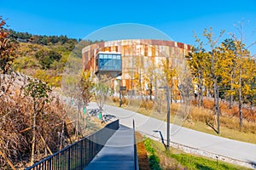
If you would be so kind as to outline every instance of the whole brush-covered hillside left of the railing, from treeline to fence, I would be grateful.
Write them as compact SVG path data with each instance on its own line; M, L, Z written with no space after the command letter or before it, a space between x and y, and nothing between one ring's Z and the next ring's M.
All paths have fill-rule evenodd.
M39 161L95 132L102 123L52 90L61 86L71 52L81 58L80 48L90 42L78 44L67 37L51 42L53 37L22 32L15 37L4 25L0 17L0 169L24 169L32 157Z

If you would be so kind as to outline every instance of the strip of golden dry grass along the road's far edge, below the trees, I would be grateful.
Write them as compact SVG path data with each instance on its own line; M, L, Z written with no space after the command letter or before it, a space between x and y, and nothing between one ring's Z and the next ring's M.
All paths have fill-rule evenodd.
M115 101L119 102L118 99ZM243 108L243 127L240 127L237 105L229 109L227 104L220 102L222 115L220 116L220 134L217 134L212 129L212 127L217 129L217 117L212 111L213 101L211 99L205 99L204 108L199 108L195 105L195 101L189 106L173 103L170 107L171 122L204 133L211 133L224 138L256 144L256 115L255 110L252 108ZM166 104L163 103L154 104L153 101L150 100L133 99L128 102L128 105L122 105L122 107L166 121ZM207 124L211 124L212 127L209 127Z

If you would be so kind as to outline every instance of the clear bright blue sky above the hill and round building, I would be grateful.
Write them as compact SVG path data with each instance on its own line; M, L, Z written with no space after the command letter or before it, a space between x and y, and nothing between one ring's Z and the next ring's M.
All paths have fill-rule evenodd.
M193 31L212 26L218 35L237 33L234 24L245 20L245 42L256 41L256 1L7 1L0 0L0 15L15 31L84 38L105 26L137 23L165 32L172 40L195 44ZM253 33L255 32L255 33ZM250 48L256 54L256 47Z

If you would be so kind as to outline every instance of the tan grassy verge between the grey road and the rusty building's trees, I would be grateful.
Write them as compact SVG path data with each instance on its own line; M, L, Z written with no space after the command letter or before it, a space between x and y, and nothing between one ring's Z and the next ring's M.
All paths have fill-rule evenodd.
M119 106L119 102L108 100L108 105ZM129 105L122 105L122 108L130 111L136 111L145 116L151 116L156 119L166 121L166 105L161 105L160 111L155 111L154 105L148 106L141 102L133 102ZM148 108L148 109L147 109ZM216 133L212 127L208 126L206 122L212 124L216 128L216 117L211 110L190 107L189 113L180 104L171 105L171 122L179 126L188 127L203 133L210 133L228 139L236 139L247 143L256 144L256 123L247 122L244 119L244 126L239 127L239 119L236 116L229 116L223 114L220 117L220 133Z

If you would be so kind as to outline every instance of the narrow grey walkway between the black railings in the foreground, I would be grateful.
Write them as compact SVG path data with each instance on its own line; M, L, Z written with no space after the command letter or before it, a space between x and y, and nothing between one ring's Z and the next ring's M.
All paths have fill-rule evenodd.
M119 129L108 139L107 144L90 161L85 170L123 169L134 170L134 133L133 129L119 126Z

